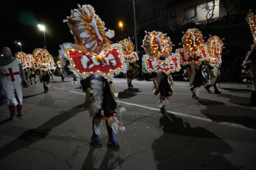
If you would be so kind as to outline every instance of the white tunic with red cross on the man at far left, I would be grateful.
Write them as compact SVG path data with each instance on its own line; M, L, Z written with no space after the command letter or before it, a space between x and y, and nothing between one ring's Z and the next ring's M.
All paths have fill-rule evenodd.
M22 88L19 64L22 62L17 58L7 66L0 66L1 83L7 97L8 106L22 104Z

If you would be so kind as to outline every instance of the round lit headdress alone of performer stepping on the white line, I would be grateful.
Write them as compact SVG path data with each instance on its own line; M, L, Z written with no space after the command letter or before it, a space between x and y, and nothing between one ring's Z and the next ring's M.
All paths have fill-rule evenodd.
M171 55L172 45L170 38L162 32L146 32L143 40L143 48L153 58L159 58L161 51L164 51L165 56Z

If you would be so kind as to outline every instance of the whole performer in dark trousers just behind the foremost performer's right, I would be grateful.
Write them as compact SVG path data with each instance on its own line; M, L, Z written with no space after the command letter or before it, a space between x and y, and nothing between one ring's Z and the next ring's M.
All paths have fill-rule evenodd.
M132 88L132 80L135 76L133 74L133 70L136 69L135 67L139 68L139 66L135 63L137 60L139 60L138 54L134 52L134 45L132 44L132 41L128 39L124 39L119 41L119 44L122 46L122 52L124 55L124 60L126 61L126 65L128 66L126 77L127 77L127 84L128 89Z

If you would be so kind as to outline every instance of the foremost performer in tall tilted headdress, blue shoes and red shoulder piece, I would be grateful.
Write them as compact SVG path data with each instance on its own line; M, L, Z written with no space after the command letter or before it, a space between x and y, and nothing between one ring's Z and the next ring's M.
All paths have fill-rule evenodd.
M78 4L78 7L71 11L71 16L67 17L67 20L63 20L67 22L76 44L61 45L59 53L69 60L68 67L80 77L82 89L86 93L89 115L93 117L92 144L102 146L98 135L104 133L101 121L105 119L108 144L118 147L113 132L124 130L124 127L114 111L117 104L113 96L117 97L117 93L111 78L114 74L126 72L121 45L110 44L108 38L114 36L114 31L105 31L104 22L95 14L91 5ZM101 115L101 110L104 111L104 116Z

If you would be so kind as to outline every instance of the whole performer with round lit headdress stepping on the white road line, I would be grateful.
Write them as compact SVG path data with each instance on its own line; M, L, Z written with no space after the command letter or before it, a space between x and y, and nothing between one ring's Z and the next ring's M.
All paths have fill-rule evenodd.
M174 85L171 72L180 70L178 53L171 53L173 44L162 32L146 32L143 48L147 54L143 55L143 71L152 73L154 95L159 97L160 112L165 113L165 103L172 94ZM171 93L171 94L170 94Z

